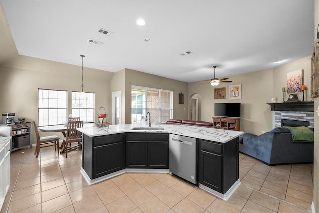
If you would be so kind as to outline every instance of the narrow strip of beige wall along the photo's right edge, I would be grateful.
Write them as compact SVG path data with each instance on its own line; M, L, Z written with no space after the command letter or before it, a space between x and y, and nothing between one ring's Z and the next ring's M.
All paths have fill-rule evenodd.
M317 35L319 24L319 0L315 0L314 5L314 31ZM319 97L315 99L315 109L319 106ZM316 114L316 113L315 113ZM319 213L319 117L315 115L315 141L314 141L314 210Z

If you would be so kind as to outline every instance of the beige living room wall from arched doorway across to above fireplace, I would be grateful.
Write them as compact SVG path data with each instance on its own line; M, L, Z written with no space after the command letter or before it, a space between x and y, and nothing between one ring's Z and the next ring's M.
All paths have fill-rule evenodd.
M283 101L282 87L287 86L287 73L298 69L304 70L304 84L310 87L310 58L307 56L283 66L252 72L242 75L233 75L228 78L232 83L220 83L213 87L209 83L189 83L188 94L199 94L201 101L201 120L212 121L214 116L214 103L241 103L240 130L260 135L262 131L273 128L273 112L267 103L275 97L276 102ZM229 85L241 84L241 100L229 100ZM214 99L214 88L226 87L226 99ZM302 92L298 94L302 100ZM310 99L310 91L305 93L307 101ZM285 94L287 100L287 94Z

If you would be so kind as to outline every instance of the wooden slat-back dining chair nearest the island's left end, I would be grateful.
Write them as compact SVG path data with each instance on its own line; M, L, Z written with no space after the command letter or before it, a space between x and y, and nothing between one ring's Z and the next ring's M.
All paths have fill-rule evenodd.
M64 151L66 154L66 158L68 157L68 150L77 147L69 147L67 148L69 143L73 142L82 142L82 133L77 130L77 128L83 127L83 121L68 121L67 129L66 129L66 137L65 137L65 144L64 144Z

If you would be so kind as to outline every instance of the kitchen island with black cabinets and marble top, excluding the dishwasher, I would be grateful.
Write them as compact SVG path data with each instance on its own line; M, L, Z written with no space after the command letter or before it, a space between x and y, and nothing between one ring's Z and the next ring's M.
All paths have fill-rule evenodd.
M238 137L244 132L187 125L110 125L83 133L81 173L89 184L126 172L169 173L169 135L196 140L196 185L227 200L240 185Z

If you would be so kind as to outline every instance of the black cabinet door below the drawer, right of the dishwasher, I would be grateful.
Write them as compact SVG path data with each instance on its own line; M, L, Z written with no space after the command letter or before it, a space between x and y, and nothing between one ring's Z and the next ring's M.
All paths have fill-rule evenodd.
M200 151L199 183L222 192L222 156L206 151Z

